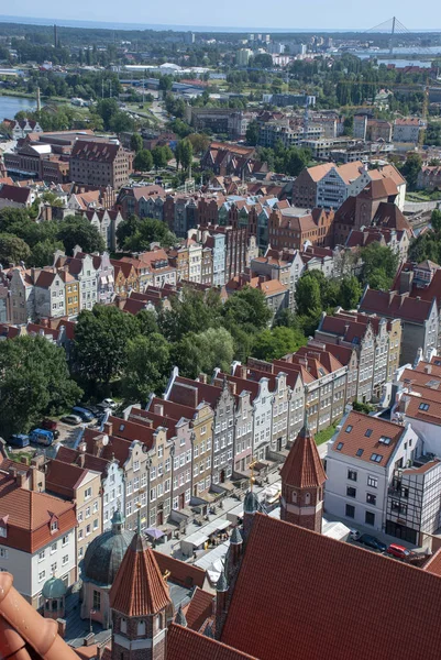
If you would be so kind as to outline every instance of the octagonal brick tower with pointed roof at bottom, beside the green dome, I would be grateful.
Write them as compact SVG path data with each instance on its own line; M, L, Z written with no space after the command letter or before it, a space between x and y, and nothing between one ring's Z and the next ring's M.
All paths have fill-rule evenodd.
M112 609L112 660L165 660L173 604L155 557L134 535L109 593Z

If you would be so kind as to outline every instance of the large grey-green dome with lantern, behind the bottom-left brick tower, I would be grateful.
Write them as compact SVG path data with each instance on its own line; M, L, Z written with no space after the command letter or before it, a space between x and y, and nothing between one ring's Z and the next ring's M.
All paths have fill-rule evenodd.
M124 519L119 510L112 517L112 529L92 540L82 561L84 582L110 586L133 538L133 531L123 528Z

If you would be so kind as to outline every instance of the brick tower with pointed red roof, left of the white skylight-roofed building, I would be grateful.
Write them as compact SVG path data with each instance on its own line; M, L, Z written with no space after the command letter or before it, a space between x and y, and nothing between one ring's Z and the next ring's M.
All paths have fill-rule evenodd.
M327 475L308 426L308 417L280 471L280 519L321 532Z

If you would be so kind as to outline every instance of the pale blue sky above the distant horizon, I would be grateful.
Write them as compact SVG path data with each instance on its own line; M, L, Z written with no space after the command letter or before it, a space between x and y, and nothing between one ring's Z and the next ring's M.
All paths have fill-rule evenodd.
M11 7L11 6L9 6ZM439 0L427 0L422 11L416 11L410 0L308 0L293 2L286 0L167 0L155 2L126 0L123 4L115 0L22 0L13 13L16 16L35 16L51 21L97 21L115 24L137 25L191 25L224 26L232 29L267 30L283 29L296 31L305 29L368 30L383 23L394 14L408 30L429 29L441 31ZM12 13L12 12L11 12ZM2 16L2 20L4 18ZM433 24L433 22L439 24ZM121 25L122 26L122 25ZM1 30L0 30L1 33Z

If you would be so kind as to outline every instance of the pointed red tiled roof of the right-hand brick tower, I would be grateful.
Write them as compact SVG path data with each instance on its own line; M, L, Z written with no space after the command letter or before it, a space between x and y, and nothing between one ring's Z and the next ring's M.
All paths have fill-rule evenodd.
M327 481L309 427L302 427L280 470L282 481L296 488L319 487Z

